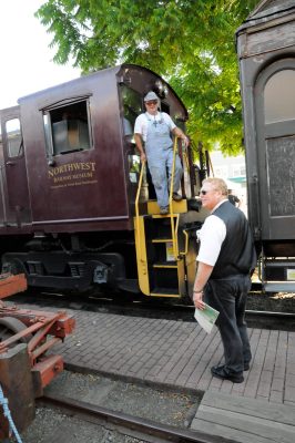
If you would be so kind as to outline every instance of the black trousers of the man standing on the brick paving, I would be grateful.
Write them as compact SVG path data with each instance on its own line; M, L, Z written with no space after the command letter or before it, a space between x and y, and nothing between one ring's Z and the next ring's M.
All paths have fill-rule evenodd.
M220 330L224 362L228 372L242 372L244 363L251 361L251 349L245 322L246 298L251 278L244 275L223 279L210 279L204 289L204 299L220 311L216 326Z

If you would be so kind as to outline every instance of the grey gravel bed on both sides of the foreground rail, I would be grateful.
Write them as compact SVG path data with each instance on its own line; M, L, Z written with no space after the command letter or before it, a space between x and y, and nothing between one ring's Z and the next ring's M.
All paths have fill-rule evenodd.
M189 427L201 401L195 394L162 391L125 383L99 375L63 371L45 389L45 393L70 396L125 414L155 422ZM68 439L67 439L67 435ZM142 440L119 434L77 418L40 408L31 426L22 435L23 443L140 443Z

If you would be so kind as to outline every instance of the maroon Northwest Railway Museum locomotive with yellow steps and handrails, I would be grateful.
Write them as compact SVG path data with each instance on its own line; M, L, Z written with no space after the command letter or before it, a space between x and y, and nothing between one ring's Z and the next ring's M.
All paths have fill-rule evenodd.
M105 69L19 100L0 111L2 271L29 287L190 296L195 274L195 168L184 167L183 199L160 216L141 167L133 125L154 91L184 130L187 112L154 72ZM148 178L146 178L148 177ZM150 186L150 193L149 193Z

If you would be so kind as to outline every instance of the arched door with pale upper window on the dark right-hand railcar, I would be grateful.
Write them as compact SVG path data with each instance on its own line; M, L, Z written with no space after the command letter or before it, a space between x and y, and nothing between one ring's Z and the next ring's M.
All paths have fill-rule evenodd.
M262 72L255 111L262 239L295 239L295 59Z

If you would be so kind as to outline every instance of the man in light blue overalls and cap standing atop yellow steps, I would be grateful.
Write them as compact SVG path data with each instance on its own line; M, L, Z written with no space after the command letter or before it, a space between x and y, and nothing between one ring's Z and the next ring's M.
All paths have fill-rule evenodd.
M175 125L165 112L159 112L160 99L150 91L144 97L146 112L138 116L134 126L134 140L141 154L141 161L148 159L149 169L155 188L160 214L169 214L169 189L173 164L173 142L171 133L189 145L189 138ZM144 145L144 148L143 148ZM166 175L169 171L169 179ZM177 194L181 185L182 165L179 155L175 158L173 199L181 200Z

